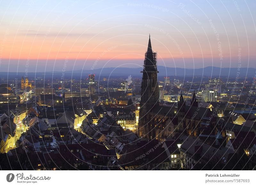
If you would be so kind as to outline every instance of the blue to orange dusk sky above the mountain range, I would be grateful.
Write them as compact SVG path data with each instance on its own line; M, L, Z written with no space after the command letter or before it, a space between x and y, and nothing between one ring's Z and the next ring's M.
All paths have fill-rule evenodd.
M1 1L0 72L256 68L256 1Z

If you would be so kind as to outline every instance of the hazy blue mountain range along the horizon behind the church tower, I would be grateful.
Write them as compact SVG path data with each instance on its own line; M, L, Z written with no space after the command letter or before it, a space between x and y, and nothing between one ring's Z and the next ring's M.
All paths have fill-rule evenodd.
M100 77L123 77L127 75L132 75L133 77L140 77L142 71L142 68L114 68L114 67L108 67L108 68L100 68L100 69L94 69L94 70L74 70L74 71L66 71L65 73L65 79L68 78L80 78L82 75L82 78L87 77L88 74L95 74L96 76ZM236 77L238 75L239 77L252 77L256 74L255 68L220 68L220 67L212 67L208 66L205 68L198 68L198 69L186 69L186 68L173 68L173 67L165 67L165 66L158 66L159 77L163 76L223 76L223 77ZM81 74L82 73L82 74ZM9 74L9 77L21 77L24 76L25 73L14 73L14 72L1 72L2 77L7 77L7 74ZM58 78L62 76L62 72L38 72L38 73L28 73L29 77L53 77Z

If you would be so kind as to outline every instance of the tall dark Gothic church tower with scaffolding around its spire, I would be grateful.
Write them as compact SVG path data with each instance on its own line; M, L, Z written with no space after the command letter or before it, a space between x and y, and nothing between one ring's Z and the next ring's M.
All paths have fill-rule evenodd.
M154 105L159 104L159 91L157 81L157 53L153 52L149 35L148 50L145 53L144 67L141 82L141 100L140 100L140 120L139 120L139 135L145 136L148 134L149 125L147 125L148 112Z

